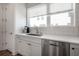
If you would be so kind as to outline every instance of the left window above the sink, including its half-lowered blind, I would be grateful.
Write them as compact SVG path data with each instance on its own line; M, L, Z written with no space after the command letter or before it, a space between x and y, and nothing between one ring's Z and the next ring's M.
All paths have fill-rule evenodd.
M30 27L46 27L47 26L47 6L39 4L27 9L27 17Z

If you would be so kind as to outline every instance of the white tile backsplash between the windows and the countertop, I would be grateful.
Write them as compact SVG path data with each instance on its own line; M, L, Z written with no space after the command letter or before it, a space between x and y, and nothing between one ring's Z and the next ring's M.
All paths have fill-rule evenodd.
M31 28L31 31L35 31L34 28ZM50 34L50 35L67 35L67 36L78 36L79 28L78 27L40 27L39 31L42 34Z

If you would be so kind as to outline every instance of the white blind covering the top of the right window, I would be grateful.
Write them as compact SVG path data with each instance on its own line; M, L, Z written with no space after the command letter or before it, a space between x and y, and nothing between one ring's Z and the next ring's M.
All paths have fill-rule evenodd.
M72 10L72 3L51 3L49 5L49 13L56 13L60 11Z

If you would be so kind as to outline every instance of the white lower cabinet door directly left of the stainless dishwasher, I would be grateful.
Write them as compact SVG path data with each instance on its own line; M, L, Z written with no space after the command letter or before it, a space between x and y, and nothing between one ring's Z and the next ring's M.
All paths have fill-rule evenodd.
M33 43L31 45L31 49L32 56L41 56L41 45Z

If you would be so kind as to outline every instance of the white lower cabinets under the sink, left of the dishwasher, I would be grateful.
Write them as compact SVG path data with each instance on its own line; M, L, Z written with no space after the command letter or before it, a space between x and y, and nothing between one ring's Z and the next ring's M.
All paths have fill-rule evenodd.
M41 44L19 38L16 40L16 53L23 56L41 56Z

